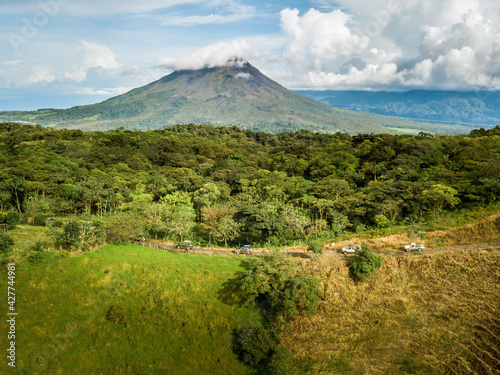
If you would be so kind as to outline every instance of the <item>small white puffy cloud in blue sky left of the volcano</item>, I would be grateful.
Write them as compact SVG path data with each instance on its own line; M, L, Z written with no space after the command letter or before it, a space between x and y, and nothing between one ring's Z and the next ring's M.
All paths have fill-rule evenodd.
M108 47L81 40L83 46L84 58L83 64L77 66L73 73L66 73L65 78L75 82L82 82L87 78L87 71L92 68L117 69L121 65L116 61L116 55Z

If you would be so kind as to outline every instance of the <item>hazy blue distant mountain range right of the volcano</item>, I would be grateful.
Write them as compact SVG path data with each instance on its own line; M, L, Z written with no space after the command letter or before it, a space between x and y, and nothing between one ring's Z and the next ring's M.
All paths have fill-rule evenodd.
M296 91L353 111L455 124L500 124L500 91Z

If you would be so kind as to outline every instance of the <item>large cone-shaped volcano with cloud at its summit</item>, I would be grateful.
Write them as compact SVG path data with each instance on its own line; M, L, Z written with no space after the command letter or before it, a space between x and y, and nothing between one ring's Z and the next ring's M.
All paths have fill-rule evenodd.
M301 94L284 88L248 62L230 61L222 67L176 71L146 86L93 105L0 112L0 121L83 130L117 127L162 129L187 123L234 125L269 133L300 129L350 134L468 133L471 130L469 126L432 123L429 122L431 117L416 121L362 113L358 111L361 110L359 106L349 110L339 108L340 105L333 107L329 103L332 98L342 99L340 101L346 108L350 105L351 99L339 96L337 92L308 91ZM366 99L366 108L376 98L374 94ZM377 103L381 106L383 101Z

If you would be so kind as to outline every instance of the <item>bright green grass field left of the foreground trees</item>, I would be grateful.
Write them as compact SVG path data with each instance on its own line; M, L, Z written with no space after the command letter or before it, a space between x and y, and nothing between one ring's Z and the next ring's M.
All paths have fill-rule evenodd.
M231 352L231 332L258 313L216 297L238 269L236 258L136 245L52 252L38 265L22 262L15 285L17 368L39 374L245 374ZM7 281L6 270L0 271L2 290ZM1 335L0 346L6 345Z

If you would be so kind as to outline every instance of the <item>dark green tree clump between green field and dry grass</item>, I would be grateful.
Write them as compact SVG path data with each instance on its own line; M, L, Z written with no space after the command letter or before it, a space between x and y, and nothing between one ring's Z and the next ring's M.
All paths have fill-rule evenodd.
M219 297L240 303L255 302L264 324L235 330L232 349L258 374L291 374L291 356L280 344L280 334L295 314L316 312L319 280L280 253L244 260L242 266L244 270L219 290Z

